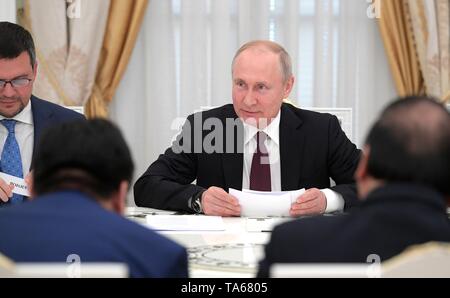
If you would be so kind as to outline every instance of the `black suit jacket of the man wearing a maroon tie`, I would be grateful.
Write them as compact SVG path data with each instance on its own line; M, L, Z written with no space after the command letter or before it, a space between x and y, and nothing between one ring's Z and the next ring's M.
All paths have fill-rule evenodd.
M201 117L196 125L194 119ZM201 136L200 144L211 130L201 130L205 120L218 119L226 127L226 119L238 119L233 105L225 105L201 114L188 117L183 131L175 143L186 145L186 136ZM139 178L134 186L135 202L138 206L191 212L188 200L210 186L242 188L243 171L243 125L237 120L234 139L224 133L225 153L195 153L191 142L191 153L175 153L174 146L167 149L157 161ZM189 127L192 127L189 130ZM237 140L237 136L241 139ZM229 140L234 144L229 144ZM220 141L216 140L216 141ZM239 141L239 142L238 142ZM228 143L227 143L228 142ZM198 142L197 142L198 143ZM189 147L189 146L187 146ZM198 146L200 147L200 146ZM227 153L234 148L234 152ZM233 152L233 151L232 151ZM330 177L337 186L332 189L343 195L346 208L356 199L353 174L360 151L356 149L342 131L335 116L297 109L290 104L281 107L280 159L282 190L301 188L327 188ZM197 184L191 184L197 180Z

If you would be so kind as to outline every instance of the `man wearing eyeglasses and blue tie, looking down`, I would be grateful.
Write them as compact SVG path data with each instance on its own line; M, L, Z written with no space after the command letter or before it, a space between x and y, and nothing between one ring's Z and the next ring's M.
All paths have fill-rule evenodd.
M16 24L0 22L0 172L19 178L30 171L45 127L83 118L32 95L37 66L31 34ZM0 178L0 207L26 199L13 188Z

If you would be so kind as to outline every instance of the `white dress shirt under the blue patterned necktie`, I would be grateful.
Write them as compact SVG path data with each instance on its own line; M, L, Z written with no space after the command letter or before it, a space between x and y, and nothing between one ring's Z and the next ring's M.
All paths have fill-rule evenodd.
M16 120L15 135L17 144L19 144L20 157L22 158L23 177L28 174L31 166L31 158L33 156L34 146L34 122L33 113L31 112L31 102L13 118L5 118L0 115L0 120L13 119ZM5 126L0 124L0 154L3 151L6 138L8 137L8 130Z

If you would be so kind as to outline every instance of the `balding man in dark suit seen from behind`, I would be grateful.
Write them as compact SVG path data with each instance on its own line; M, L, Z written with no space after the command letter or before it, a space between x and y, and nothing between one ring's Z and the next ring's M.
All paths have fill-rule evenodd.
M450 241L450 115L441 104L411 97L387 107L355 176L359 208L277 226L260 277L274 263L383 261L413 244Z

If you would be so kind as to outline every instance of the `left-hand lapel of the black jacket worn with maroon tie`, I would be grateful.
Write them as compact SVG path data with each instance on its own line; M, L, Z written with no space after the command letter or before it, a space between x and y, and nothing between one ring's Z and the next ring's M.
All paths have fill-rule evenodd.
M237 115L234 112L234 108L232 105L228 105L223 112L223 125L225 127L224 132L226 132L226 119L237 119ZM243 126L242 122L239 120L239 124L237 131L234 133L234 152L239 153L223 153L220 154L222 156L222 166L223 166L223 174L225 178L225 185L227 187L235 188L235 189L242 189L242 171L244 169L244 154L243 154ZM238 137L242 138L242 140L238 141ZM226 148L226 134L224 136L224 144ZM242 144L242 146L240 146ZM238 148L238 146L242 148ZM238 151L239 149L239 151ZM225 191L228 191L228 189L225 189Z

